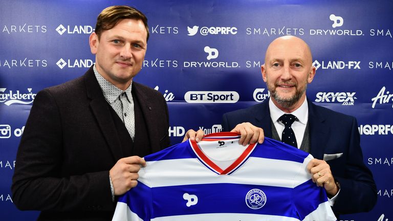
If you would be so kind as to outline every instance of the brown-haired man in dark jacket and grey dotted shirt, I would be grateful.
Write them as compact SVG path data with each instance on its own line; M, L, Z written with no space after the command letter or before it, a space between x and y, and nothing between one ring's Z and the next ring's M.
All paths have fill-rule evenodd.
M111 220L141 157L169 146L165 99L133 82L147 39L143 13L108 7L90 36L95 65L37 94L13 176L19 209L40 210L38 220Z

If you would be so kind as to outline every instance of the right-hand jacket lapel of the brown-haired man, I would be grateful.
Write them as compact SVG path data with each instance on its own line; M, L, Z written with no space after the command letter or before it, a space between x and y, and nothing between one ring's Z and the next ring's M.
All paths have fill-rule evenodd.
M136 98L138 99L139 106L141 107L141 111L146 123L146 128L148 132L148 137L150 141L150 146L152 152L158 152L160 151L160 138L159 137L159 132L157 131L157 121L160 119L157 119L156 113L157 111L162 111L162 109L158 109L156 105L154 105L154 100L151 98L149 99L146 96L146 92L143 86L141 84L133 81L133 91L135 92Z

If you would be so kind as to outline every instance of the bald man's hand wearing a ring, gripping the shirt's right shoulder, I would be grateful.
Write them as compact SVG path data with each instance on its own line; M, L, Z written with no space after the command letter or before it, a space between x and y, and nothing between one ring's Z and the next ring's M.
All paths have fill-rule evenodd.
M307 170L311 173L313 182L317 186L323 187L330 196L335 196L338 192L338 186L334 181L330 166L326 161L312 159L307 165Z

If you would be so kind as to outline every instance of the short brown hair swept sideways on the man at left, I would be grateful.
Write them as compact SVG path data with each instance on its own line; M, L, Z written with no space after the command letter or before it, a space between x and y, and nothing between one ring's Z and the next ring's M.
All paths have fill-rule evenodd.
M102 10L97 17L95 33L100 38L103 31L110 30L122 19L142 20L146 27L147 39L149 39L149 27L147 26L147 17L139 10L129 6L110 6Z

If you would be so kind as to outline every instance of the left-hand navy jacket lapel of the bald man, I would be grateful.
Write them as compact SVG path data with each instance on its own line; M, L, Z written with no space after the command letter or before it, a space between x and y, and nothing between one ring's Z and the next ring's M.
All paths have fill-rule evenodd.
M272 138L272 120L270 118L269 100L257 104L253 112L254 113L251 113L250 116L255 116L255 122L252 122L252 124L263 128L265 137Z

